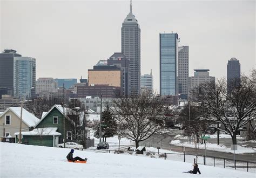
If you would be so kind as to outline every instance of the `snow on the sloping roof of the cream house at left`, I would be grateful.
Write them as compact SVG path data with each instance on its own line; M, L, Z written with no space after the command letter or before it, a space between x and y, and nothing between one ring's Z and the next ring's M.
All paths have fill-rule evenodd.
M21 118L21 107L9 107L5 112L7 112L9 109L14 112L18 118ZM33 127L37 124L37 122L39 122L39 119L35 117L35 115L26 111L26 109L22 108L22 121L29 127Z

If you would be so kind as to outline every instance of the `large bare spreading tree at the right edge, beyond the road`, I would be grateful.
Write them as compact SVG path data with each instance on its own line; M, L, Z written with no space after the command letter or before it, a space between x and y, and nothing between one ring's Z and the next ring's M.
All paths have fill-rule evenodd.
M224 128L212 125L219 131L230 134L233 145L237 144L239 128L255 118L255 85L248 77L242 77L240 85L227 94L225 79L207 83L196 88L198 101L208 114L208 120L220 123Z

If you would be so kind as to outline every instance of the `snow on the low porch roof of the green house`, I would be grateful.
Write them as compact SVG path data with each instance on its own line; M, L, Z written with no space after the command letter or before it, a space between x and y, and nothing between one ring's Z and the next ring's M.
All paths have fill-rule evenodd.
M57 127L44 127L44 128L35 128L30 132L22 132L22 135L62 135L57 131ZM14 135L18 135L19 132L16 132Z

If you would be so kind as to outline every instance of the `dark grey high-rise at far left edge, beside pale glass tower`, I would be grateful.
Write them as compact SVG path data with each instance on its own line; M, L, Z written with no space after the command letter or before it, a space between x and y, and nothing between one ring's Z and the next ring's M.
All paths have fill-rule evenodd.
M0 87L11 90L11 95L14 92L14 57L20 56L15 50L0 53Z

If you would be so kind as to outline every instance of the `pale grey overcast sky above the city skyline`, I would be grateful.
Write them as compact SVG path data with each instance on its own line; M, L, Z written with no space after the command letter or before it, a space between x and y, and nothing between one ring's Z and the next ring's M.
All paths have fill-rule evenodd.
M100 59L121 51L130 1L1 1L0 50L36 58L36 78L87 78ZM133 1L141 29L142 74L159 91L159 33L177 32L193 69L226 77L227 60L255 68L255 1Z

